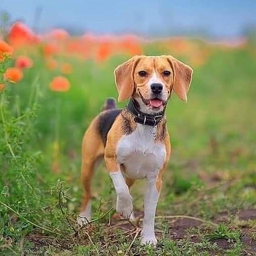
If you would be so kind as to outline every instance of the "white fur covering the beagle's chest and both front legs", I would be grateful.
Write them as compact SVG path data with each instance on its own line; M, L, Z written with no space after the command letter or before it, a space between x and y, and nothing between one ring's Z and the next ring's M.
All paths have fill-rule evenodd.
M154 218L159 193L156 189L156 178L163 166L165 145L155 142L150 126L137 124L136 130L123 136L117 144L117 162L124 164L125 173L118 170L110 173L117 193L117 211L129 218L132 213L132 197L125 184L123 175L131 179L147 179L145 193L145 217L142 230L142 242L156 244Z

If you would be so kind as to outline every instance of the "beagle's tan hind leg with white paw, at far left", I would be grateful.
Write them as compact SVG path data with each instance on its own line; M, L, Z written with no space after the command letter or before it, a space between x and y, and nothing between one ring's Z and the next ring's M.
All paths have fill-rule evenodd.
M82 198L80 214L77 218L79 225L82 225L82 222L86 221L86 219L90 219L91 199L93 197L91 190L92 178L103 155L103 142L95 130L94 123L92 123L82 141L81 182L84 188L84 195Z

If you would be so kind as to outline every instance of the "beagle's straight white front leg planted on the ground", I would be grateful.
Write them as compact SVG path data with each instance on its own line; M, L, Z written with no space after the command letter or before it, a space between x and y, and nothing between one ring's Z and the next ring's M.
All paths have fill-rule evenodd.
M144 197L144 220L142 228L142 243L156 245L155 237L155 211L160 194L157 179L147 178L147 187ZM161 184L160 184L161 185Z

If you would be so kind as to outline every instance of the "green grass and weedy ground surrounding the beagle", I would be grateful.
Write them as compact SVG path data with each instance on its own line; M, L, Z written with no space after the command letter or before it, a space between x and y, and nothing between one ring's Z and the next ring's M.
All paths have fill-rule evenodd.
M145 53L166 54L158 44L145 45ZM69 58L75 67L68 75L71 89L55 93L48 84L57 71L49 72L38 54L32 56L34 67L24 79L0 93L1 254L253 255L254 49L252 43L243 49L210 48L207 62L194 67L188 104L175 95L168 104L173 153L157 216L170 218L156 220L156 248L142 246L139 235L134 239L140 221L116 220L112 210L109 227L115 193L103 164L93 184L96 221L82 230L76 226L81 139L105 99L116 98L113 69L127 57L101 65ZM138 181L132 188L138 215L143 185ZM176 218L181 215L192 218Z

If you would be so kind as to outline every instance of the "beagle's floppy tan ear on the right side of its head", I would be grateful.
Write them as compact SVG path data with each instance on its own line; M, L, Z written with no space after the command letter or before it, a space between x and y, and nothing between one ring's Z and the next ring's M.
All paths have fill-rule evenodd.
M165 56L174 73L174 92L180 99L187 101L187 92L189 90L193 69L183 62L175 59L173 56Z

